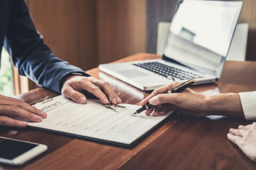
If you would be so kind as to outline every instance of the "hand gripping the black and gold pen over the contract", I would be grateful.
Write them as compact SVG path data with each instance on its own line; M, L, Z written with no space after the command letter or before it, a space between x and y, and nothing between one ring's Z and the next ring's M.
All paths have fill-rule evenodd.
M206 116L205 95L189 88L180 93L166 94L167 91L179 84L179 82L173 81L166 86L155 89L147 98L142 100L140 103L142 106L148 102L155 106L149 108L146 115L150 115L155 109L153 116L164 115L170 111L179 111L191 116Z

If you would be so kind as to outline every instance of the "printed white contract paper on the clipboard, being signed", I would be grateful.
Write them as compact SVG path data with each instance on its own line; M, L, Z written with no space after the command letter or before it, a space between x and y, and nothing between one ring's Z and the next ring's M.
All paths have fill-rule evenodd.
M87 99L86 104L77 104L63 96L54 97L34 107L47 113L42 122L29 126L77 137L121 146L132 144L162 122L164 116L146 116L145 112L131 115L141 106L120 104L125 108L105 107L100 100Z

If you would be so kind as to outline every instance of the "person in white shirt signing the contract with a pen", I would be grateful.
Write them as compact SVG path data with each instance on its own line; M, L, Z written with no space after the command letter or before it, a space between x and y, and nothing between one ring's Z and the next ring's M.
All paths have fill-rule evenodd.
M179 111L191 116L223 115L256 120L256 91L228 93L218 95L203 95L191 89L181 93L166 94L177 81L155 89L140 105L148 102L155 107L146 111L146 115L153 112L153 116L164 115L169 111ZM230 129L227 137L242 149L244 154L256 162L256 122L238 129Z

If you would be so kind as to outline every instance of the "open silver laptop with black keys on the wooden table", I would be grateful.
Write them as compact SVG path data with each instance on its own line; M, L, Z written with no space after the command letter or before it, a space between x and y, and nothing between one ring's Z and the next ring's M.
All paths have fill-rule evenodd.
M161 60L101 64L99 69L141 90L174 80L217 81L242 6L241 1L179 1Z

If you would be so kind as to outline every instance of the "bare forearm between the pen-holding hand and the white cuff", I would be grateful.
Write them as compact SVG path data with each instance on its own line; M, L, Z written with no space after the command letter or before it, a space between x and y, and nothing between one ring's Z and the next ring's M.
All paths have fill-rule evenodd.
M208 115L244 117L239 94L229 93L207 96L205 106Z

